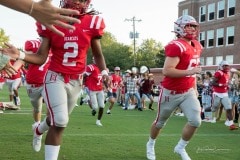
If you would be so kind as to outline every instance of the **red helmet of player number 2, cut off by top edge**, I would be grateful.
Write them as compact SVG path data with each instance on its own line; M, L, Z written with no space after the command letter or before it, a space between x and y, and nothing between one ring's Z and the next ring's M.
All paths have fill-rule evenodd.
M78 0L79 2L85 2L84 6L82 7L77 2L73 2L74 0L60 0L60 7L61 8L70 8L74 10L78 10L80 14L86 13L91 0Z

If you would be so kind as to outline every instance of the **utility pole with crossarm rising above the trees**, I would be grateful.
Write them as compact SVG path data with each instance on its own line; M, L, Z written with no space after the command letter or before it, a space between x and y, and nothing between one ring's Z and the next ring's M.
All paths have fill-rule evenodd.
M135 22L141 22L142 20L141 19L136 19L136 17L134 16L134 17L132 17L132 18L130 18L130 19L125 19L125 21L130 21L130 22L132 22L132 26L133 26L133 32L132 32L132 34L130 33L130 38L131 39L133 39L133 59L134 59L134 66L136 65L136 38L138 38L138 34L139 33L137 33L136 32L136 29L135 29Z

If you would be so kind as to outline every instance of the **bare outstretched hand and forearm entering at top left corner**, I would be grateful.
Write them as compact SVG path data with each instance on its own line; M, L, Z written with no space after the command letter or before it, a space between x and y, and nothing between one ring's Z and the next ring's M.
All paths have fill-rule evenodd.
M36 21L45 25L53 32L64 36L64 33L59 31L55 26L60 26L68 29L75 29L74 26L65 23L80 23L79 19L70 17L69 15L79 15L79 11L65 8L57 8L51 4L51 0L0 0L0 4L16 11L28 14Z

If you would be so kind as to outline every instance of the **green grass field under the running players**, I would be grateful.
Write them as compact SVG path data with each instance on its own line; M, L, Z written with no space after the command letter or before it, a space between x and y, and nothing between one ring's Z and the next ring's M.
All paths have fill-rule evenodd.
M41 151L34 152L32 108L25 87L19 92L21 110L0 114L0 160L43 160L44 138ZM0 91L0 101L8 101L6 86ZM104 113L103 127L98 127L87 105L76 107L64 133L59 160L146 160L145 146L155 116L156 110L125 111L115 105L112 115ZM157 160L180 159L173 148L185 122L177 116L168 121L156 143ZM192 160L240 160L239 142L240 129L230 131L224 119L216 124L203 122L187 152Z

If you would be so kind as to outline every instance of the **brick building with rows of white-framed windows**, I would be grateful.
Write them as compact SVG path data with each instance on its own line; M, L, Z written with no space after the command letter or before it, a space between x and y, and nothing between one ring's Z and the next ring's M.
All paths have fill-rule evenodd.
M222 60L240 64L239 0L184 0L179 2L178 16L185 14L200 24L203 66L218 65Z

